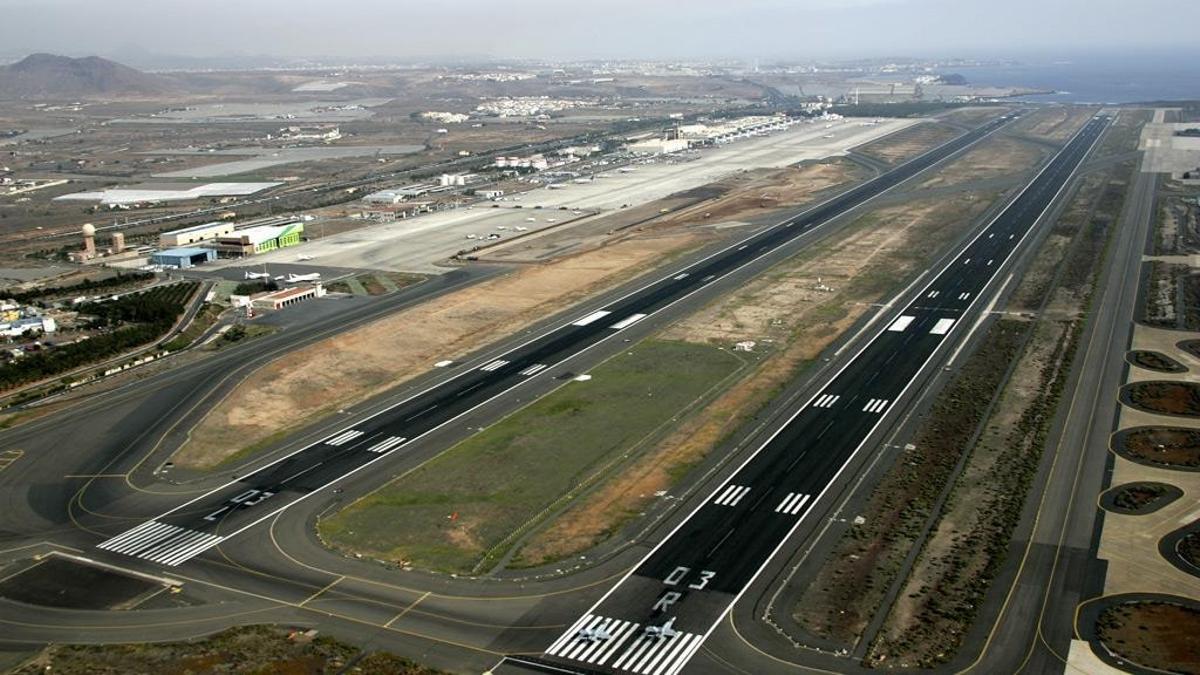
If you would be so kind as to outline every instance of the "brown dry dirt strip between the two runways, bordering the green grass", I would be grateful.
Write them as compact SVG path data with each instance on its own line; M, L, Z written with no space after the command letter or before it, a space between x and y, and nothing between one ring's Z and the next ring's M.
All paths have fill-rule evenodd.
M521 551L526 562L587 550L642 513L737 430L797 370L954 241L990 199L917 201L862 216L838 237L776 265L746 287L670 327L665 339L774 352L652 452L571 507Z

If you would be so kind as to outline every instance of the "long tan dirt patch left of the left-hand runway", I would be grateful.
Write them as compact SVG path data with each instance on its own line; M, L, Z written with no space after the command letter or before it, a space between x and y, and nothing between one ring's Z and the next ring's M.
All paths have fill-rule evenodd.
M304 347L251 374L176 453L208 468L302 422L353 405L611 288L704 238L647 232L589 253L522 269Z

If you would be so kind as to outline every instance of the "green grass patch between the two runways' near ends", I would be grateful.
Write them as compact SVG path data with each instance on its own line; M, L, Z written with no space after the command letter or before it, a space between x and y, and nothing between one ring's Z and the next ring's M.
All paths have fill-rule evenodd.
M739 368L716 347L638 344L322 520L322 536L380 560L478 573L510 534Z

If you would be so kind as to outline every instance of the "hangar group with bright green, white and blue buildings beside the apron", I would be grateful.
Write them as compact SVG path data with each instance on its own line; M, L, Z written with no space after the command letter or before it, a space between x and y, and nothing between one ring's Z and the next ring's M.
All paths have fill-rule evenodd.
M241 258L287 249L300 244L304 222L250 225L206 222L158 235L160 251L150 255L151 264L186 269L222 258Z

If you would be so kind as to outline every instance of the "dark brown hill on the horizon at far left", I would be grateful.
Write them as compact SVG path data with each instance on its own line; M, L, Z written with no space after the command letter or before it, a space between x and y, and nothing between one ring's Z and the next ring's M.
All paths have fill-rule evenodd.
M162 94L173 89L175 83L166 77L100 56L31 54L0 67L0 96L5 98L85 98Z

